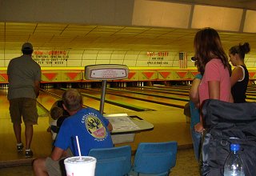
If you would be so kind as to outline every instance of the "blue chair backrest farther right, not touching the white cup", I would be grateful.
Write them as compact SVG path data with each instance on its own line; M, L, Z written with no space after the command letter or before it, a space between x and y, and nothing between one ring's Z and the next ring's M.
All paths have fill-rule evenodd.
M168 175L176 165L177 142L142 142L134 157L133 171Z

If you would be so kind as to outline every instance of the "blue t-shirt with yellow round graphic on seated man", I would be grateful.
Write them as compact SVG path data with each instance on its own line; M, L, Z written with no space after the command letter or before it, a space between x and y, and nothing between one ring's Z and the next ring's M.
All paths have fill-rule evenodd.
M58 132L54 146L70 150L78 156L76 136L79 139L81 154L86 156L90 149L113 147L109 121L93 108L83 108L76 114L66 118Z

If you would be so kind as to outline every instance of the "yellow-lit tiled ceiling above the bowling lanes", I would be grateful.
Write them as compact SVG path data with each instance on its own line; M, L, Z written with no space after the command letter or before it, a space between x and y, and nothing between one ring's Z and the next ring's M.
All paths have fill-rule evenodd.
M170 1L165 1L170 2ZM256 10L256 1L189 1L214 6L240 6ZM0 52L20 50L22 43L32 42L38 50L174 50L193 52L197 30L161 27L90 26L58 23L0 22ZM249 42L256 53L256 34L219 31L226 50L239 42Z

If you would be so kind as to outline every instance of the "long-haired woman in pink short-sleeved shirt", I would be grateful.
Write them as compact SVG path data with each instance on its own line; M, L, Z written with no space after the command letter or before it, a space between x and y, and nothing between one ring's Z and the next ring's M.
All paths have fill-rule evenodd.
M194 37L195 58L198 61L202 81L198 87L199 102L202 107L206 99L219 99L230 102L231 98L231 66L223 50L218 32L212 28L199 30ZM201 122L194 130L204 130Z

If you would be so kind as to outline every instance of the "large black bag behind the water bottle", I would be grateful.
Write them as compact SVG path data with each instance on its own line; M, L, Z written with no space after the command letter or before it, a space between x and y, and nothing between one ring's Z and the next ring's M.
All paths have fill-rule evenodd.
M256 175L256 102L206 100L202 106L206 131L202 139L203 176L222 176L230 143L241 146L245 175Z

